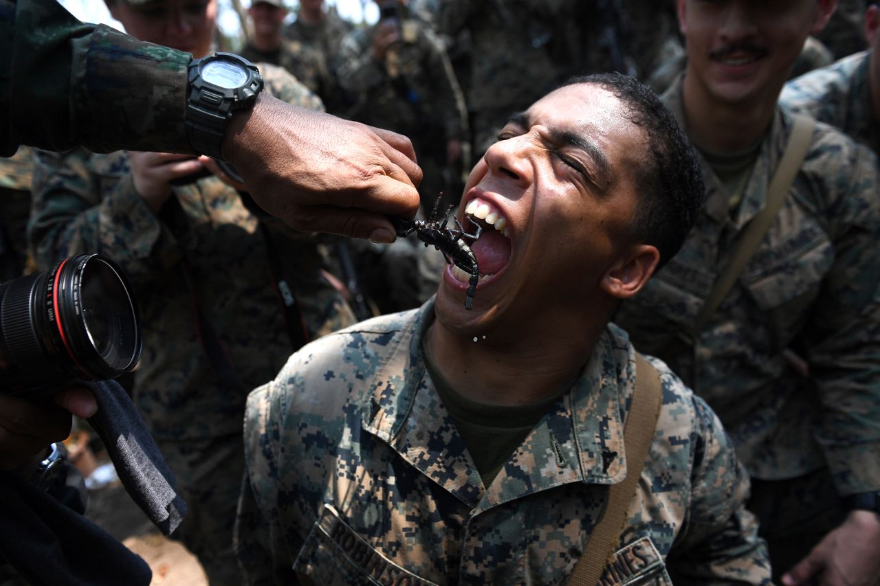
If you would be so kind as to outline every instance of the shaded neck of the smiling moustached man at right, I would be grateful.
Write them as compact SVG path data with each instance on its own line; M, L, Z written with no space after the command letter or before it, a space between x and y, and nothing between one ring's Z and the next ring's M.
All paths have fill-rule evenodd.
M690 71L684 83L687 136L705 150L744 150L755 143L773 121L779 89L768 90L758 99L728 102L716 99Z

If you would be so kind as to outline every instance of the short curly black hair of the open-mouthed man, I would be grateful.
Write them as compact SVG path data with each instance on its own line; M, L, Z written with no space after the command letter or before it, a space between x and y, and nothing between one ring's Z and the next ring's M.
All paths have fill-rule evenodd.
M635 170L642 205L633 223L635 238L654 245L663 267L685 243L706 196L700 163L675 116L646 85L619 73L572 77L561 87L594 84L627 107L629 121L644 130L648 150Z

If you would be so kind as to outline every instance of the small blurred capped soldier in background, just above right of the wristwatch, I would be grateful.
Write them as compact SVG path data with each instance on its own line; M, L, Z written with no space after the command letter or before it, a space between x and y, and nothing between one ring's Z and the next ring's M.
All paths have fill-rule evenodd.
M257 0L247 9L253 35L240 55L254 63L271 63L288 70L324 101L334 99L335 85L317 49L281 33L287 8L282 0Z

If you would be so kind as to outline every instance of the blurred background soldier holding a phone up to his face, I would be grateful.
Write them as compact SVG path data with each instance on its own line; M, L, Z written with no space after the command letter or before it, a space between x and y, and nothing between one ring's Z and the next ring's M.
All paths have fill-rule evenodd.
M466 139L461 89L443 42L429 26L410 18L400 0L377 4L378 23L342 40L337 74L357 97L352 119L413 141L424 171L422 206L431 209L437 195L450 191L444 170L461 157Z

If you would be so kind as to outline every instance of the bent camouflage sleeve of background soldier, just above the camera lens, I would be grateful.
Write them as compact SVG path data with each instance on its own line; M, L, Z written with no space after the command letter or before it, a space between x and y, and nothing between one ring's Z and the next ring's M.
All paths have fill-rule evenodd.
M28 242L38 266L79 253L104 253L134 283L180 259L174 237L137 194L126 173L102 196L84 149L40 152L33 177Z

